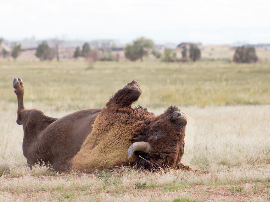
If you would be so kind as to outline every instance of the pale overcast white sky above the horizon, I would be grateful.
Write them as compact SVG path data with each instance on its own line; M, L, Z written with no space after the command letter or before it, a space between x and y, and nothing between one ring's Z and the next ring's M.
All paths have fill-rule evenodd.
M155 44L270 43L270 1L0 0L0 38L9 41L146 37Z

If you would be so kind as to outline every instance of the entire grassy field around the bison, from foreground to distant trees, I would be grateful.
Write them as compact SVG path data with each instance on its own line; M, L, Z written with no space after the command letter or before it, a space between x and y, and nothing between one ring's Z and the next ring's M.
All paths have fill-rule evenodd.
M197 171L29 170L16 124L15 77L24 81L26 107L56 118L103 107L126 83L139 81L135 105L156 114L176 105L187 113L182 162ZM0 60L0 89L0 201L270 200L269 61L97 62L89 69L79 60Z

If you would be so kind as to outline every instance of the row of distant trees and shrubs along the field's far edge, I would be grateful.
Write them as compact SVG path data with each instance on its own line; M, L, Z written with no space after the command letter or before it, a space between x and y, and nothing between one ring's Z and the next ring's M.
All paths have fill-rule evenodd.
M0 45L3 42L3 39L0 38ZM36 57L40 58L40 60L52 60L53 58L57 58L59 60L59 44L61 43L59 40L53 40L55 44L55 48L50 48L46 41L43 41L38 48L36 49ZM150 39L146 39L145 37L138 38L132 42L132 44L128 44L124 48L125 57L128 60L143 61L144 57L147 57L149 54L152 54L155 58L161 58L164 62L186 62L186 61L197 61L201 58L201 50L196 44L189 43L188 46L182 46L181 54L182 58L176 57L176 52L173 49L166 48L161 54L158 50L154 48L154 42ZM187 48L188 47L188 48ZM11 53L2 48L1 55L5 58L7 55L11 55L14 60L19 56L22 51L22 47L20 44L13 43ZM99 52L100 55L99 55ZM98 50L97 48L91 49L90 45L85 42L82 46L82 50L80 47L76 47L73 58L76 60L78 57L84 57L85 60L88 61L89 66L91 67L96 60L101 61L119 61L119 54L116 56L112 54L110 48L103 48L102 50ZM235 54L233 56L233 61L237 63L255 63L258 61L258 57L256 55L256 50L254 47L238 47L235 50Z

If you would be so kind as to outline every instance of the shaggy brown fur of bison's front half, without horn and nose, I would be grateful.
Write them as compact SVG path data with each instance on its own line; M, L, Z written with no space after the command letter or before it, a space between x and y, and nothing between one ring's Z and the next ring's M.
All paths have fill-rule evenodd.
M132 108L140 94L140 84L132 81L110 98L97 116L92 133L73 158L72 169L88 172L131 164L152 170L180 164L186 122L172 121L180 110L171 106L156 116L146 108ZM129 146L141 141L149 142L151 152L137 152L129 162Z

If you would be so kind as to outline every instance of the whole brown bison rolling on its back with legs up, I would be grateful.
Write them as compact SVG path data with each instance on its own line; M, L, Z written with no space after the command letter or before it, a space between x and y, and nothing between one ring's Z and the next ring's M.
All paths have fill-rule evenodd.
M141 95L131 81L113 95L102 109L81 110L60 119L23 105L23 82L15 78L17 124L22 124L23 155L30 168L50 164L56 171L91 172L121 165L153 170L182 168L187 119L170 106L156 116L141 106L131 107Z

